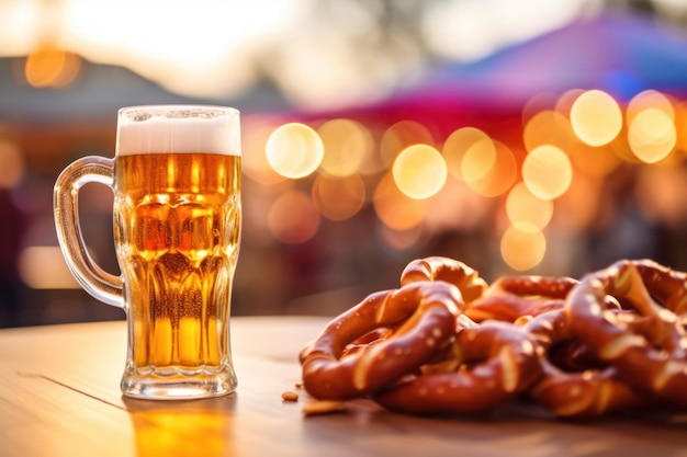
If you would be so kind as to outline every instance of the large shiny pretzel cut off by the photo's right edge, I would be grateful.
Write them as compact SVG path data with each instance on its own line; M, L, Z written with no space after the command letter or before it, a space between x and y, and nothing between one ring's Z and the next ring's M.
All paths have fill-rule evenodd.
M673 310L683 310L687 276L652 261L620 261L585 276L571 290L566 311L573 332L633 388L687 405L687 336ZM602 305L610 294L643 321L628 325ZM652 298L665 300L657 304ZM672 309L666 308L672 307Z

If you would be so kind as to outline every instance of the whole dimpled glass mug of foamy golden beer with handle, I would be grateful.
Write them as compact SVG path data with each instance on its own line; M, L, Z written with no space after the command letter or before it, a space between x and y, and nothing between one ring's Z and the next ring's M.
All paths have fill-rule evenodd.
M236 388L229 315L240 156L234 108L133 106L119 111L114 159L81 158L57 179L55 224L69 269L89 294L126 312L126 396L190 399ZM77 198L89 182L114 192L120 276L83 243Z

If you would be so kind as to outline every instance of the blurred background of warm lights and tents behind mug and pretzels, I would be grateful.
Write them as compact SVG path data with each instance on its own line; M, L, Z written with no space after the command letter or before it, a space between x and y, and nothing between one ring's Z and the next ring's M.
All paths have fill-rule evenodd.
M124 319L68 272L53 185L156 103L241 110L234 315L334 315L427 255L687 271L687 2L0 0L0 327ZM110 190L80 210L117 273Z

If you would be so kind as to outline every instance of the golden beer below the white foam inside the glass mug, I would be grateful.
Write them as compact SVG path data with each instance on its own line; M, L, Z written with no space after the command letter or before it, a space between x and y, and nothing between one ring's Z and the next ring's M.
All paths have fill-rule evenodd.
M240 157L120 156L114 187L115 245L126 260L134 335L128 368L221 369L240 238Z

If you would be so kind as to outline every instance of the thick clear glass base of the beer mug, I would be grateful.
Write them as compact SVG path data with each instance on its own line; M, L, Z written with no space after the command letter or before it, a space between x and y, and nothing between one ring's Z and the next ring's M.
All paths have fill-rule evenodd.
M222 397L236 390L236 375L232 369L221 373L185 375L169 370L155 375L127 373L122 378L122 393L148 400L193 400Z

